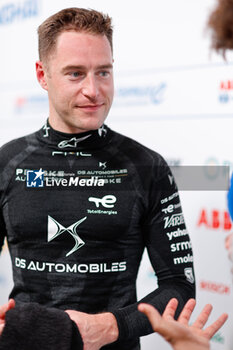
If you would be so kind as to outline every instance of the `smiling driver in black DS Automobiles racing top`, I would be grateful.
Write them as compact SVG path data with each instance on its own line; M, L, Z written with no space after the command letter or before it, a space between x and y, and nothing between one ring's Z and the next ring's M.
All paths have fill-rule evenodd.
M48 21L70 25L80 11L109 25L97 11L65 9L46 28ZM113 97L108 34L68 28L48 61L41 49L37 62L48 121L0 151L0 242L7 237L12 259L10 297L69 309L87 350L109 343L106 349L136 350L138 337L152 332L137 310L144 248L159 287L142 301L162 312L175 297L181 310L195 295L191 242L164 159L104 124Z

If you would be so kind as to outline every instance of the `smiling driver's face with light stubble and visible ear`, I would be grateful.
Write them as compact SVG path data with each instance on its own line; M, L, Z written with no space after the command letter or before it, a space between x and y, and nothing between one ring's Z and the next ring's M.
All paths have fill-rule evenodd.
M49 121L59 131L98 129L113 100L112 51L106 36L60 34L47 65L37 62L37 78L48 91Z

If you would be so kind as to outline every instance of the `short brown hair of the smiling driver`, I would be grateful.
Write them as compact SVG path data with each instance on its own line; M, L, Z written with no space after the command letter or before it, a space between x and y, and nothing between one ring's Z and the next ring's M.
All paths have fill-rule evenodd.
M106 35L112 48L111 18L95 10L71 7L47 18L38 28L39 59L46 60L54 51L58 36L64 31Z

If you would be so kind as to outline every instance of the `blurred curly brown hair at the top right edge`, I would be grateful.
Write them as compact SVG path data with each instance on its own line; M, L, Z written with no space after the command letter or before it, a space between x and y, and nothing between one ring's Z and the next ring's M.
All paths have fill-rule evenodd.
M218 0L210 14L208 28L211 31L211 47L225 57L226 50L233 49L233 0Z

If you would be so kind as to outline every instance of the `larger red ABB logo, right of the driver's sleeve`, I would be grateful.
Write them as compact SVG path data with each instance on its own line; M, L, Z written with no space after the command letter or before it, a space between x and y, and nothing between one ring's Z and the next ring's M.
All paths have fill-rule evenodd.
M229 231L232 224L227 211L211 210L207 213L207 210L203 209L200 213L197 226Z

